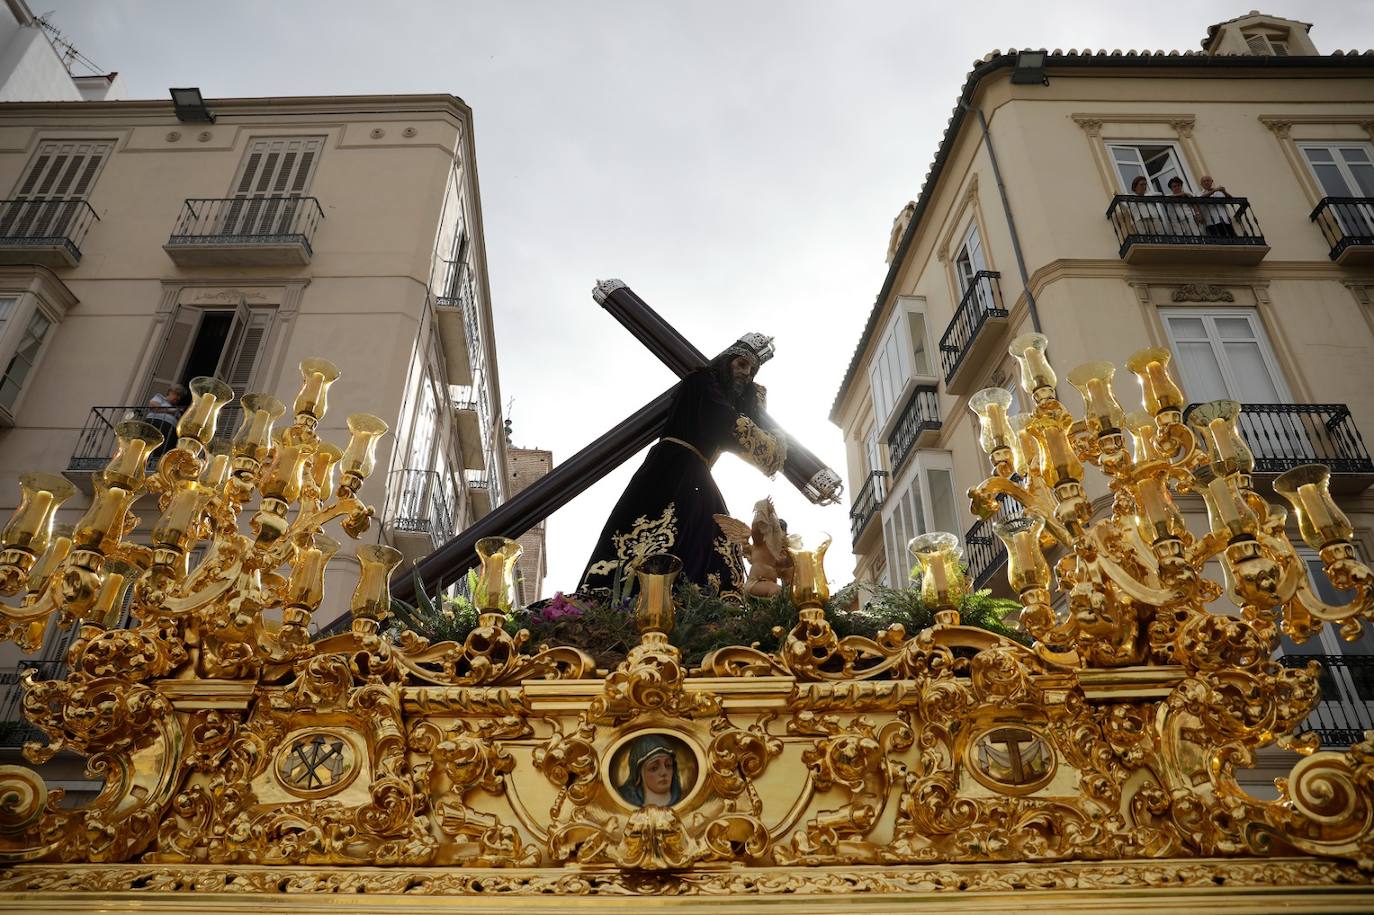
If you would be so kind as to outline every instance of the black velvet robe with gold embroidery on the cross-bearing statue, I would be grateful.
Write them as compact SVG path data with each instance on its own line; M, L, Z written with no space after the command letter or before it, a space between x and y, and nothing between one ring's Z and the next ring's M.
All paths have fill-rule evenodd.
M721 451L731 451L769 477L782 468L786 438L758 425L763 387L756 390L758 396L746 396L741 412L706 368L682 381L664 437L649 449L602 529L583 573L583 591L610 588L617 569L639 556L671 552L683 561L679 581L724 595L742 592L742 551L716 523L725 500L710 478L710 464Z

